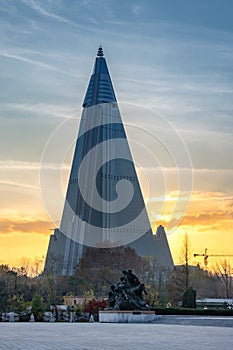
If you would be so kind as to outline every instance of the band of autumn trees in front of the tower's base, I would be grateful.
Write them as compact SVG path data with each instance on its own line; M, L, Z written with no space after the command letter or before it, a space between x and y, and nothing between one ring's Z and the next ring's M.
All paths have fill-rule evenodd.
M186 253L173 271L160 266L155 258L138 256L130 247L88 248L73 276L54 275L48 269L32 277L25 267L0 265L0 313L22 313L33 300L38 303L38 297L44 310L62 304L66 295L106 298L110 285L127 269L133 269L145 284L151 306L177 306L190 287L197 298L233 297L233 271L226 261L215 272L208 272L200 266L190 266Z

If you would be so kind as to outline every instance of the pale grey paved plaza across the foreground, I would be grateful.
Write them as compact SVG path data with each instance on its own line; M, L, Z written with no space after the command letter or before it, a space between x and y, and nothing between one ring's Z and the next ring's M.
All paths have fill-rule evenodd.
M219 350L232 344L229 326L0 323L1 350Z

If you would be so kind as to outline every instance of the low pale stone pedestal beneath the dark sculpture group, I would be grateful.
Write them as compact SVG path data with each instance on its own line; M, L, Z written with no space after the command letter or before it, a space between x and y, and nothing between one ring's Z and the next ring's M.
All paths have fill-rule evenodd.
M99 312L101 323L151 323L156 319L154 311L107 310Z

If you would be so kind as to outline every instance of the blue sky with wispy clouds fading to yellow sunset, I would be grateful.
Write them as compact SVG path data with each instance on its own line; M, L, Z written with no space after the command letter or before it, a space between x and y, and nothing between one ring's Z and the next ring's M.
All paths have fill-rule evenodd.
M64 198L43 181L62 177L64 197L100 44L154 231L176 263L184 233L193 253L233 255L232 13L231 0L0 1L0 264L46 254Z

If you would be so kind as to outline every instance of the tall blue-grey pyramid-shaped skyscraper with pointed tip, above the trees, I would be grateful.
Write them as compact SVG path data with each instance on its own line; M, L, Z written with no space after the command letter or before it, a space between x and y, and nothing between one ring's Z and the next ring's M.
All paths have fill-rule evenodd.
M72 275L86 247L127 245L173 268L162 226L152 234L103 50L83 102L59 229L50 237L45 270Z

